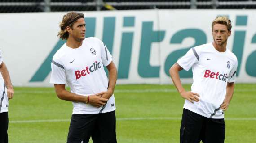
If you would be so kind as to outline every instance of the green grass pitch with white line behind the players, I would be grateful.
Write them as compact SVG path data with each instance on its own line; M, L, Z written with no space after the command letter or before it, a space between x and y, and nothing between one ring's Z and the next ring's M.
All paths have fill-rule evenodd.
M179 143L184 100L173 85L117 85L115 102L119 143ZM53 88L16 87L9 143L66 143L71 114ZM256 84L235 85L225 123L225 143L256 142Z

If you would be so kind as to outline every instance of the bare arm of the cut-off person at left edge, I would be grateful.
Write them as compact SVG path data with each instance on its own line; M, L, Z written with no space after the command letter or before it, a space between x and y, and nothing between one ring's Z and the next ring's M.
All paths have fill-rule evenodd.
M2 64L0 65L0 71L4 79L4 84L6 85L6 88L7 88L7 97L8 99L12 99L14 95L13 84L11 82L9 72L4 62L2 62Z

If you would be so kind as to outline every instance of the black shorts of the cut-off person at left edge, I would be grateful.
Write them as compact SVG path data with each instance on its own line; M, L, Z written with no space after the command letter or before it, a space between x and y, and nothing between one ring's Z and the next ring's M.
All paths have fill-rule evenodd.
M0 113L0 143L8 143L8 112Z

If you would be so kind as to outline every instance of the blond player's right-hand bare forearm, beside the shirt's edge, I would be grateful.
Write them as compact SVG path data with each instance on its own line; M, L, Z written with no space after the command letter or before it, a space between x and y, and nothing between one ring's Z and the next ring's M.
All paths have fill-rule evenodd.
M231 82L227 84L227 87L226 87L226 97L223 101L223 103L221 104L221 107L220 109L222 109L223 111L227 110L229 105L230 105L230 101L233 97L233 94L234 94L234 82Z

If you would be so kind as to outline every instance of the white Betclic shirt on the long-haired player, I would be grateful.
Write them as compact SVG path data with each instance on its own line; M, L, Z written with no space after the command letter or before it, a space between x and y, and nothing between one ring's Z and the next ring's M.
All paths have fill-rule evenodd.
M85 38L83 44L75 49L65 43L53 56L50 83L68 84L71 93L84 96L107 91L108 79L104 66L111 61L112 55L98 38ZM114 95L100 108L73 102L73 114L98 114L114 110Z

